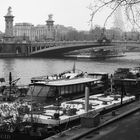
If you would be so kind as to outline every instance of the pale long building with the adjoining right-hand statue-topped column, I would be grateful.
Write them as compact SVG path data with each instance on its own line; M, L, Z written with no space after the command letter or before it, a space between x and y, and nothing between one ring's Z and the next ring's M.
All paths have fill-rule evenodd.
M52 15L48 16L46 25L34 26L31 23L16 23L13 27L15 38L28 39L29 41L47 41L54 40L55 29Z

